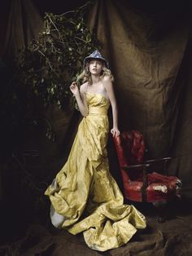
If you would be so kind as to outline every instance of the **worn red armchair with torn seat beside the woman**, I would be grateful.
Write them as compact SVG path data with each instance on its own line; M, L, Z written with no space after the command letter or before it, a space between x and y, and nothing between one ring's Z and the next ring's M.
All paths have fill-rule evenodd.
M165 205L176 196L180 197L181 180L175 176L149 172L154 166L167 162L171 157L143 161L146 152L142 134L137 130L124 131L113 137L120 173L124 185L124 196L130 201L151 202L155 206ZM161 165L162 166L162 165ZM163 221L162 213L158 217Z

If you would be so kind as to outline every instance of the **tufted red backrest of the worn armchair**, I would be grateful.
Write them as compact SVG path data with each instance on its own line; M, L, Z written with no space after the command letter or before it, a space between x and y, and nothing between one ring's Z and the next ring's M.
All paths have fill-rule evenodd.
M145 153L145 142L138 130L124 131L120 133L120 136L113 137L113 141L120 166L132 166L142 163ZM121 168L120 171L125 182L129 182L130 179L137 176L136 172L140 172L140 170L128 172Z

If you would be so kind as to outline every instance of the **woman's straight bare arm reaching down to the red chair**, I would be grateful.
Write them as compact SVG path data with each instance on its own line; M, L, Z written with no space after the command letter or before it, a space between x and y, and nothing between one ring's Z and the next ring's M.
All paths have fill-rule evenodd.
M113 127L111 129L111 134L113 136L119 136L120 130L118 129L118 109L116 104L116 96L113 90L111 78L108 76L105 76L103 78L103 86L107 90L107 95L109 97L111 108L112 108L112 118L113 118Z

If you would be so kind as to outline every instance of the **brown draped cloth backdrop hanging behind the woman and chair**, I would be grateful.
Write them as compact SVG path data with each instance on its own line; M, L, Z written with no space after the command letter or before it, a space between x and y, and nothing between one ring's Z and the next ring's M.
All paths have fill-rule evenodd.
M14 57L41 31L42 19L35 4L12 1L2 42L7 58ZM88 24L102 43L115 76L120 130L140 130L151 157L175 156L168 174L179 176L184 194L191 196L192 55L187 6L176 3L162 12L146 14L126 1L98 0L89 12ZM50 108L47 115L58 138L55 143L41 139L41 154L50 161L61 150L66 152L72 113ZM42 145L49 149L45 152ZM118 170L112 172L119 175Z

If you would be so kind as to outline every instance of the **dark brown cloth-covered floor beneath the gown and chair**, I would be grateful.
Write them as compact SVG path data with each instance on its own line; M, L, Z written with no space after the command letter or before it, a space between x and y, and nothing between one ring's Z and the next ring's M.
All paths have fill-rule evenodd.
M17 203L15 203L17 205ZM20 204L18 204L20 205ZM50 224L48 210L44 216L6 212L1 218L0 255L5 256L75 256L75 255L192 255L192 209L190 201L183 198L173 201L166 211L166 221L158 223L157 212L151 204L137 204L146 215L147 227L138 231L128 244L101 253L85 245L83 235L72 236ZM15 214L15 218L13 218ZM4 215L4 216L3 216ZM28 215L29 216L29 215ZM3 228L2 228L3 227Z

